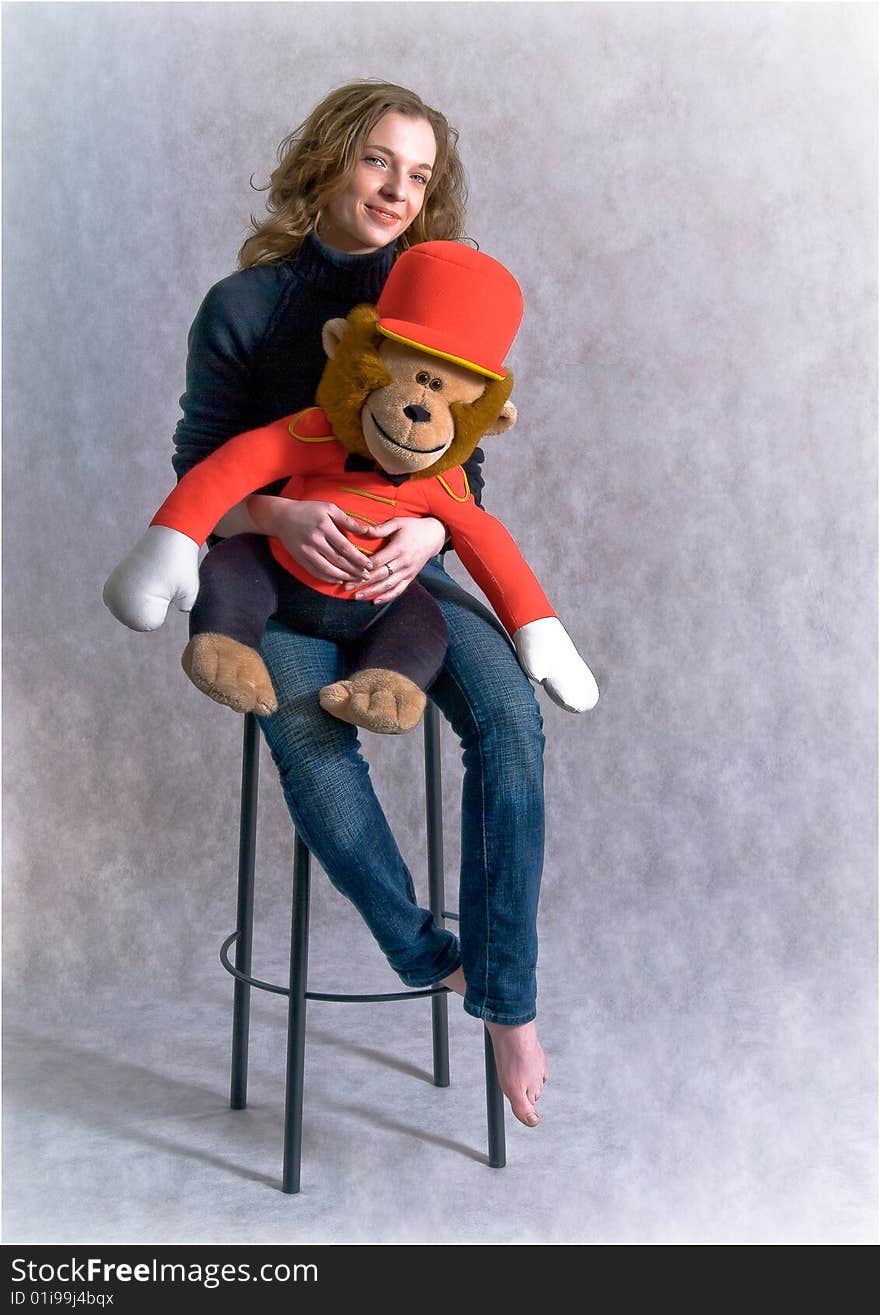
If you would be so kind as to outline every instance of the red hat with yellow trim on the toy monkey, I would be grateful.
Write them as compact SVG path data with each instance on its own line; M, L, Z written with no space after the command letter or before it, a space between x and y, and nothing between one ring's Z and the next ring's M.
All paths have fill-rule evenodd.
M387 338L505 379L522 292L491 255L460 242L420 242L391 267L376 310Z

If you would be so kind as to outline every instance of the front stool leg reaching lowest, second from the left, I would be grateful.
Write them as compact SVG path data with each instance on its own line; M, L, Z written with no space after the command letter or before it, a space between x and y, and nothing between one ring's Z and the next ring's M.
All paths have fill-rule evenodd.
M287 1093L284 1097L284 1169L281 1191L300 1190L303 1160L303 1077L305 1070L305 992L309 967L309 851L293 844L291 913L291 994L287 1013Z

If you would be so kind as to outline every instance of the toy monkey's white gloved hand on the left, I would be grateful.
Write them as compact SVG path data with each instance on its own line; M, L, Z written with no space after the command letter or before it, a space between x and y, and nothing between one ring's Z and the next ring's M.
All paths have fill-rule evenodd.
M199 544L151 525L104 585L104 602L130 630L158 630L174 602L189 611L199 593Z

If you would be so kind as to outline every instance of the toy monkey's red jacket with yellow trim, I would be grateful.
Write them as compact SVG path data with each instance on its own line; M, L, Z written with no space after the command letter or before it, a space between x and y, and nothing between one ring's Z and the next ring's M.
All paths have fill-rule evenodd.
M334 502L363 521L381 525L393 517L433 515L449 530L452 547L487 596L508 634L542 617L555 617L547 596L505 527L477 506L467 475L455 466L425 480L391 484L378 471L346 471L347 452L318 406L230 438L191 469L164 500L151 525L164 525L205 542L221 517L254 489L289 476L281 497ZM378 551L376 539L347 538L362 552ZM275 560L318 593L351 598L341 584L309 575L270 539Z

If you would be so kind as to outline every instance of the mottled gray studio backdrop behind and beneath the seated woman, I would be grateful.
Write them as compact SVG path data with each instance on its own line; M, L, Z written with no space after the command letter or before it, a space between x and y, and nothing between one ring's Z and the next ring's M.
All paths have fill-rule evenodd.
M876 8L3 26L7 1240L872 1239ZM187 329L262 213L250 176L363 76L460 129L470 233L522 283L487 505L601 701L542 696L542 1127L508 1119L491 1172L475 1020L451 1011L438 1091L422 1006L314 1005L288 1199L280 1002L254 1006L253 1109L225 1109L241 723L180 672L178 613L132 634L100 586L171 487ZM368 756L422 882L420 736ZM445 764L454 901L451 734ZM257 963L283 976L264 767ZM316 988L392 985L314 885Z

